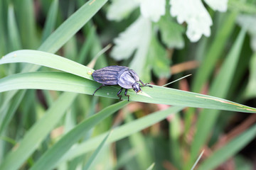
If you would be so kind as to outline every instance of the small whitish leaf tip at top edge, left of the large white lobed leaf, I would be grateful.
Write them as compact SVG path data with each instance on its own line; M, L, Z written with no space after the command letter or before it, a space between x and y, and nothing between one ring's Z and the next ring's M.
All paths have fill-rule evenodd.
M140 0L140 2L140 11L145 18L156 23L161 16L164 16L166 0Z

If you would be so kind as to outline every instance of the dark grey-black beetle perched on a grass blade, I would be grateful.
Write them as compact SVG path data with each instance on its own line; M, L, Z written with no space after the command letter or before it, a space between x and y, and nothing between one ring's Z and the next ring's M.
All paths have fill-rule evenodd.
M103 67L102 69L97 69L95 70L95 72L92 73L92 77L93 79L95 79L95 81L102 84L98 89L95 90L95 92L92 94L93 96L95 95L97 90L102 88L102 86L119 85L121 86L121 89L117 92L119 100L121 100L122 98L122 95L120 95L122 89L125 89L124 95L128 97L129 101L129 95L127 95L128 89L133 89L136 93L138 93L142 91L142 86L153 87L144 84L139 79L138 74L134 72L134 70L124 66L109 66ZM140 81L142 85L139 84L138 81Z

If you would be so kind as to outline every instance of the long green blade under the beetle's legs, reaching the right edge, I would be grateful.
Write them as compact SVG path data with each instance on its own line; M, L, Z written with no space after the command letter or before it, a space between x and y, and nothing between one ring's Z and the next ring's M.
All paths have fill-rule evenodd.
M46 89L92 95L95 89L99 86L100 84L96 81L84 79L65 72L28 72L14 74L0 79L0 92L17 89ZM119 86L105 86L97 91L95 96L118 98L118 90ZM154 88L144 87L142 90L144 91L143 93L148 96L135 94L132 89L129 89L128 94L130 95L130 101L256 113L256 108L243 106L223 98L196 94L162 86L154 86ZM127 100L125 97L123 99Z

